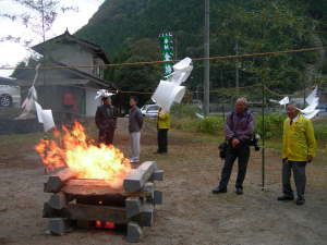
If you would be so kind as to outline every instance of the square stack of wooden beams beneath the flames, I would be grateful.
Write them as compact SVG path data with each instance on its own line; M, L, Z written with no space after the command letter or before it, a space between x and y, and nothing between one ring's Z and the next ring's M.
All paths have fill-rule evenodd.
M76 179L69 169L61 170L45 183L45 192L52 194L44 205L48 231L63 235L73 223L99 220L126 224L126 240L136 243L142 229L153 225L155 206L162 204L162 193L156 191L156 181L162 180L164 171L154 161L134 169L121 189L110 188L102 180Z

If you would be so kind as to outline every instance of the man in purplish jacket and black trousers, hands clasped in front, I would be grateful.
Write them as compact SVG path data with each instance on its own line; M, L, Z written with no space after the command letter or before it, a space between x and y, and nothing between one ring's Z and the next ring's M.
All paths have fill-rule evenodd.
M243 181L246 174L250 159L250 142L254 133L254 118L247 111L245 98L237 100L235 110L231 112L226 121L225 135L228 140L225 166L221 172L219 185L213 189L214 194L227 193L227 185L231 175L232 167L239 159L239 172L235 184L235 193L243 194Z

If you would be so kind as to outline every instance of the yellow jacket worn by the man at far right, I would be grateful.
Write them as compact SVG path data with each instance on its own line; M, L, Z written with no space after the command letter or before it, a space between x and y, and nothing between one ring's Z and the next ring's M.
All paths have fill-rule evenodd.
M308 156L315 156L317 148L313 124L302 114L296 122L290 122L289 118L283 122L282 159L306 161Z

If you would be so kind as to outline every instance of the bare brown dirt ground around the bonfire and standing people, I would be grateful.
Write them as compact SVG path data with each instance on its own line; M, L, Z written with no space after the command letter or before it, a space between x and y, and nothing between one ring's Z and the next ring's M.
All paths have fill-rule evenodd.
M116 144L128 151L125 122ZM90 131L94 133L94 131ZM128 244L121 234L74 231L64 236L45 234L41 218L44 169L33 145L40 135L17 136L8 144L0 138L0 245L104 245ZM12 136L14 137L14 136ZM157 156L156 131L150 125L142 136L142 159L157 160L166 180L159 184L165 203L158 207L155 225L144 230L141 244L217 245L324 245L327 242L327 167L307 168L307 203L280 204L280 161L267 155L267 192L261 189L261 156L252 155L245 195L233 193L233 173L226 195L211 195L221 170L217 144L201 135L170 132L170 152Z

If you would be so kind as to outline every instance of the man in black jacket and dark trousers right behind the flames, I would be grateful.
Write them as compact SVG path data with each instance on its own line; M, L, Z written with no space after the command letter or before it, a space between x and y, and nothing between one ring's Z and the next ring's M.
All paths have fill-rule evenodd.
M110 97L102 98L102 105L97 109L95 121L99 128L99 143L112 145L117 126L117 111L111 105Z

